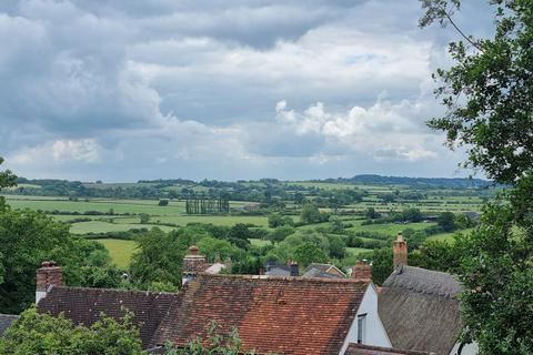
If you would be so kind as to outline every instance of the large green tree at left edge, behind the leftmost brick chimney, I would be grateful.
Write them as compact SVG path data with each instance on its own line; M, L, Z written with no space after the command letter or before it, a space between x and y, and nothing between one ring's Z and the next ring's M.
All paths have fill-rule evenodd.
M63 266L71 286L114 287L120 278L107 250L71 237L68 226L31 211L0 211L0 312L34 302L36 271L46 260Z

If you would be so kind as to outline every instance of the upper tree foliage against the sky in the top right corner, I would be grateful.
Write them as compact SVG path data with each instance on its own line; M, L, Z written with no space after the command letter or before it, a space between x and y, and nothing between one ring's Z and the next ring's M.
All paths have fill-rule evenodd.
M449 22L444 10L431 9L460 1L423 2L432 3L421 22L425 26L432 19ZM496 8L494 38L451 43L455 65L434 75L441 82L435 93L447 111L430 126L446 132L451 146L466 146L465 165L512 183L533 165L533 0L491 3Z

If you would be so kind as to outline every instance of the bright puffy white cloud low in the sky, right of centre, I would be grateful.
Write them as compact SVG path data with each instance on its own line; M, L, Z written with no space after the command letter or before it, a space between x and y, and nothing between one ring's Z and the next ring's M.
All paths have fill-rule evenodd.
M442 140L440 134L416 124L416 118L423 116L425 109L420 102L404 100L393 104L379 100L368 109L353 106L341 112L330 112L319 102L298 113L286 110L286 102L280 101L276 122L298 136L323 136L326 143L321 155L364 154L381 161L415 162L436 156L436 143Z

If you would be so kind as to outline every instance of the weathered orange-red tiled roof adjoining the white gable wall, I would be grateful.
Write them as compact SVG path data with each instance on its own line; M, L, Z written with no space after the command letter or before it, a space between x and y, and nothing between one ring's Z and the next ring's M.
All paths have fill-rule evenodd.
M199 275L154 335L178 345L215 321L258 354L339 354L369 283L353 280Z

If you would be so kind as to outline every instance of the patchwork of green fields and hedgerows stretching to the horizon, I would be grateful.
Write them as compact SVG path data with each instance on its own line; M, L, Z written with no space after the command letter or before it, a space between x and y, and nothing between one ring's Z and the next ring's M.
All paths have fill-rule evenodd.
M379 178L380 183L369 183L369 179L376 178L237 183L182 180L110 184L23 181L19 187L7 191L4 197L12 209L40 211L67 223L73 235L98 240L118 265L127 267L134 242L113 239L117 233L141 233L154 227L170 232L189 224L207 223L222 227L243 224L252 230L263 230L262 235L266 235L273 231L272 225L269 226L272 213L289 219L290 224L295 224L296 233L318 231L332 237L338 235L352 240L352 244L356 245L348 245L345 256L345 262L352 263L359 254L388 245L388 241L400 230L408 233L431 231L428 232L431 234L429 239L450 241L453 232L435 233L436 216L443 212L455 215L475 213L495 193L495 189L487 189L490 186L480 181ZM383 179L389 180L383 183ZM230 213L185 213L187 196L223 194L230 199ZM165 200L164 204L160 203L161 199ZM341 230L332 231L328 219L314 222L301 220L303 201L316 205L322 215L335 216ZM420 220L401 221L401 217L394 217L413 209L422 214ZM369 223L368 211L371 210L384 220ZM272 244L264 239L251 239L251 245L262 248Z

